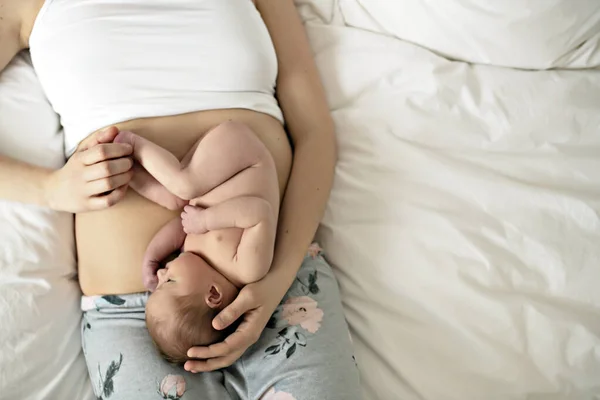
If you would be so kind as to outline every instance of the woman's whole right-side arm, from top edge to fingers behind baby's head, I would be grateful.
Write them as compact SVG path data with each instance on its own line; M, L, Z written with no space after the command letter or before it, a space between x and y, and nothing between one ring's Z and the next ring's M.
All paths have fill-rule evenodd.
M224 329L244 315L236 332L221 343L196 347L187 370L231 365L260 337L291 286L323 215L336 162L334 124L312 52L293 0L257 0L277 52L277 95L294 145L294 159L281 205L271 270L245 286L213 321Z

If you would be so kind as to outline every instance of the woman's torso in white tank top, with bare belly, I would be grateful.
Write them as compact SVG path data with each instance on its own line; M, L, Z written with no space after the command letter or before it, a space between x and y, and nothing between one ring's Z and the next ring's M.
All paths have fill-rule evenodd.
M291 150L274 97L276 55L251 0L48 0L29 43L68 153L114 124L181 157L210 128L237 120L271 151L285 187ZM144 290L145 248L173 215L132 191L78 214L84 293Z

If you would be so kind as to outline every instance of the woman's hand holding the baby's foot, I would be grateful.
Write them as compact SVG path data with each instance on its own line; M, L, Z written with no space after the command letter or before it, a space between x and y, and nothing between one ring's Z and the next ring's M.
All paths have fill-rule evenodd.
M131 145L112 143L119 131L105 129L81 146L45 186L46 201L55 210L79 213L101 210L125 197L133 176Z

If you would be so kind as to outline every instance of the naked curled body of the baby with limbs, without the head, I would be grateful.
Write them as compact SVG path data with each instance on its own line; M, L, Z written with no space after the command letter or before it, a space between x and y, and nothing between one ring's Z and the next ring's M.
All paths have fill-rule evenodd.
M251 283L267 273L273 257L279 188L270 153L247 126L235 122L217 126L181 162L169 151L131 132L122 132L116 141L131 143L134 157L143 167L138 167L131 183L142 196L171 209L180 208L188 200L208 203L206 209L186 206L182 214L186 234L243 229L231 260L232 264L243 264L241 269L233 270L238 282ZM156 260L177 250L172 245L179 241L171 240L169 246L159 243L160 238L173 237L175 225L165 225L163 230L169 232L159 231L148 247L145 258L154 260L153 270ZM178 233L176 237L183 241L185 235Z

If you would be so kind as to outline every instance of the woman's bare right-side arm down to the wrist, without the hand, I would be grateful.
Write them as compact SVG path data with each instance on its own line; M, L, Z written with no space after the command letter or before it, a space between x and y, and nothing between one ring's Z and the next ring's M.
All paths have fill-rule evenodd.
M287 292L323 217L336 163L334 123L293 0L257 0L277 52L277 97L294 146L271 271Z

